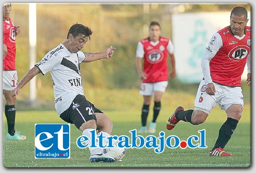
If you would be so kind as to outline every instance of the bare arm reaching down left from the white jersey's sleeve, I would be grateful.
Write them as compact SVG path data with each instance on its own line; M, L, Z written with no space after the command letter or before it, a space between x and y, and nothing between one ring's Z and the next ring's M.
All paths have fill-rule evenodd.
M40 73L38 67L34 66L29 72L21 79L17 87L12 90L12 96L18 96L22 87L24 87L30 80L37 74Z

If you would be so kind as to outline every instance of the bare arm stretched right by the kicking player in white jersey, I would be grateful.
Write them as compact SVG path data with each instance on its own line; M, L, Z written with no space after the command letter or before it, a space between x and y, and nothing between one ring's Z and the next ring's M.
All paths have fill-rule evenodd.
M116 48L110 46L106 48L104 52L98 52L98 53L84 52L85 60L83 60L83 62L92 62L92 61L96 61L103 58L111 58L114 54L114 50L116 50Z

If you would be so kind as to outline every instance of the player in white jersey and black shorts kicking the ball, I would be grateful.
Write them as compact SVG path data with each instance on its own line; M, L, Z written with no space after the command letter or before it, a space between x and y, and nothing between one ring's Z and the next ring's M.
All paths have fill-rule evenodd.
M35 75L46 72L51 73L55 97L55 108L62 120L74 124L82 131L82 135L89 138L91 144L91 130L98 130L105 137L112 132L112 122L99 109L97 109L84 96L80 63L92 62L103 58L111 58L116 48L110 46L101 53L86 53L81 49L90 40L92 31L82 24L74 24L68 31L67 39L39 61L21 79L20 83L12 90L12 95L17 96ZM91 162L113 162L114 158L102 153L100 148L90 149Z

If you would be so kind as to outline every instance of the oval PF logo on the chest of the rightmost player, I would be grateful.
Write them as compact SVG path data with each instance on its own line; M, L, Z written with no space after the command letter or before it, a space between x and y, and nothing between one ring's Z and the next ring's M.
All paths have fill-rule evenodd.
M238 45L228 53L228 58L234 61L238 61L236 59L246 58L249 55L249 53L250 47L245 45Z

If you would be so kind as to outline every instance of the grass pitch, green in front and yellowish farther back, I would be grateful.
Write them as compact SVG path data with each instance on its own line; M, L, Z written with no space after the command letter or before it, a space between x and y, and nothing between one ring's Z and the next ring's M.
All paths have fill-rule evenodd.
M89 149L76 146L76 139L82 134L71 125L70 159L35 159L34 157L34 125L43 123L64 123L51 105L45 107L31 107L17 98L15 129L27 136L24 141L7 141L6 117L3 113L3 166L7 168L248 168L251 166L251 102L250 88L243 87L244 109L242 118L235 133L225 147L232 157L209 157L209 151L215 144L219 128L226 121L226 113L218 105L211 111L208 119L201 125L191 125L180 122L171 131L166 130L166 119L177 106L182 105L185 110L194 108L196 87L185 86L183 90L167 90L162 99L162 109L157 119L157 132L164 131L167 136L176 135L186 140L191 135L199 136L198 130L206 130L206 149L170 149L165 147L161 154L153 149L128 149L122 162L91 163ZM49 88L41 92L46 96L52 95ZM113 122L112 135L131 136L129 130L140 128L140 110L143 99L136 89L85 89L89 101L105 112ZM52 98L52 97L48 97ZM50 111L44 111L47 108ZM148 124L152 120L152 106L148 117ZM151 134L143 134L146 137Z

